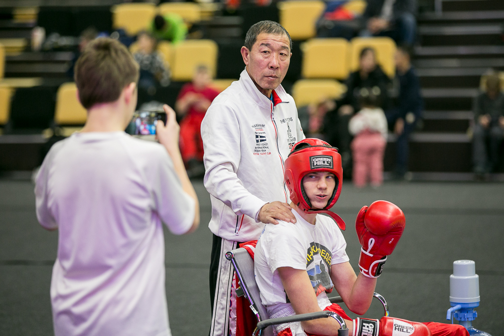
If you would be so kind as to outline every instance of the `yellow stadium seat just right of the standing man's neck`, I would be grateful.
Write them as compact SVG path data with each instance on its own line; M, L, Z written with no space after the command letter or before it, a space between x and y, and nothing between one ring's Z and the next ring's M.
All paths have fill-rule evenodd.
M345 92L345 85L334 79L302 79L292 86L292 97L297 107L318 103L327 98L339 99Z

